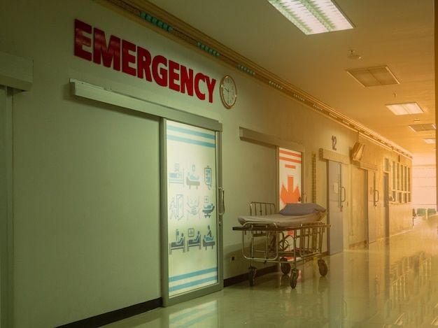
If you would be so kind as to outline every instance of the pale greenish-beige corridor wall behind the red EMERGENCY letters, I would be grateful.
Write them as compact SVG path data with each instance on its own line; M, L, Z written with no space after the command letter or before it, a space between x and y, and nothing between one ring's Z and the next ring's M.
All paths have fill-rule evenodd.
M218 88L209 104L74 57L75 18L218 81L231 74L239 92L236 105L226 110ZM330 150L337 136L337 152L348 156L358 139L355 131L274 88L94 1L6 0L0 29L8 31L0 51L34 60L34 85L15 95L13 105L15 327L53 327L161 296L157 117L72 97L69 78L222 122L224 278L248 268L240 255L241 235L232 231L237 216L248 213L249 201L276 201L276 150L241 141L239 127L304 146L308 201L316 153L316 201L322 206L327 166L318 150ZM385 152L371 148L365 158L381 169ZM356 243L364 238L364 195L356 185L364 182L363 172L351 164L346 170L346 233ZM391 231L402 231L404 208L393 206L393 213Z

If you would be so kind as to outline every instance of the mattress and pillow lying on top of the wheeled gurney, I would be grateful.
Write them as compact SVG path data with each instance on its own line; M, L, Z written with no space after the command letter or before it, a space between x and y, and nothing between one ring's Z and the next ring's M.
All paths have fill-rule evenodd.
M317 204L288 204L281 213L271 215L241 215L240 224L276 224L277 227L293 227L303 223L319 222L325 217L325 208ZM299 215L285 215L298 214Z

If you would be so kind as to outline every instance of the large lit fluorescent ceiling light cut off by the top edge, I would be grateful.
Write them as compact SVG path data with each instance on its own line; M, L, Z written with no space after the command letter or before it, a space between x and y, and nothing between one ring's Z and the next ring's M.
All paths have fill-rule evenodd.
M318 34L353 25L331 0L268 0L304 34Z

